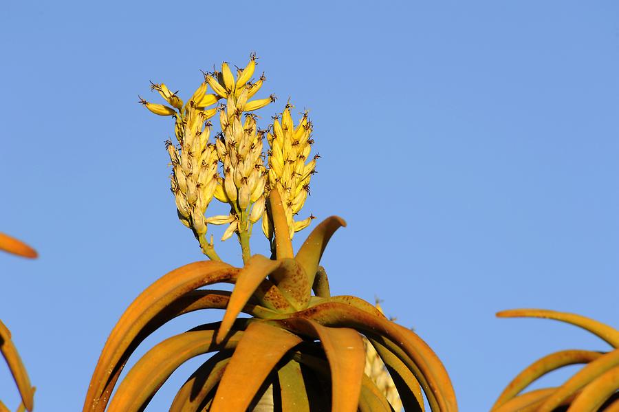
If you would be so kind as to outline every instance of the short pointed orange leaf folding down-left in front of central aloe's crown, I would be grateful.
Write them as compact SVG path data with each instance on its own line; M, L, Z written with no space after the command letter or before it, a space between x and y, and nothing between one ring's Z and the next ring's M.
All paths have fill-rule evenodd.
M221 343L230 331L232 323L234 323L243 306L249 301L254 291L260 283L279 267L279 261L272 261L261 254L254 254L248 259L245 267L239 272L237 283L228 302L228 308L221 320L221 327L217 331L217 343Z

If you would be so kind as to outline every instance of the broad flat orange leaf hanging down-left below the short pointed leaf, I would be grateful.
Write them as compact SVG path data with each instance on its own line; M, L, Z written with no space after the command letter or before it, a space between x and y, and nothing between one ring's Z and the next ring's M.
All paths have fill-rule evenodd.
M221 377L210 412L245 411L277 362L298 343L301 338L284 329L250 323Z

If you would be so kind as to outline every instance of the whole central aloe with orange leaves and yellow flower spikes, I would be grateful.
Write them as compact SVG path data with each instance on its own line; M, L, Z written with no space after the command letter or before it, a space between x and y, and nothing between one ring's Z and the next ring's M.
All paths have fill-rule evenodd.
M362 299L331 295L320 261L343 219L327 217L294 252L292 237L313 219L296 220L318 159L310 155L312 122L305 112L294 126L288 102L268 129L257 128L253 111L274 96L250 100L265 80L252 82L256 63L252 55L236 78L227 63L221 72L205 73L186 103L164 84L152 89L169 105L140 98L153 113L175 120L177 143L166 147L177 214L210 260L169 272L129 305L102 349L83 410L142 411L177 367L207 353L213 356L182 384L170 411L246 411L261 397L285 412L398 409L364 373L365 337L406 411L424 411L424 395L432 411L457 411L448 373L419 336ZM221 131L213 143L209 119L217 113ZM213 198L230 206L230 213L206 217ZM260 220L268 256L250 251L252 228ZM222 240L237 236L241 268L221 261L213 235L207 237L213 224L228 225ZM215 283L234 289L204 289ZM118 382L146 336L176 316L205 309L225 313L220 322L155 345ZM237 318L241 312L250 318Z

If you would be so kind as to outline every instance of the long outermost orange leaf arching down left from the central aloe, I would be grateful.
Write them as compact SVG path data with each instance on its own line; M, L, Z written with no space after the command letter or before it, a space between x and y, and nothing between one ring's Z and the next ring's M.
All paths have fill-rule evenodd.
M146 288L129 305L107 338L90 380L83 411L105 411L118 376L131 354L131 351L127 354L127 350L142 329L167 305L187 292L211 283L234 283L238 272L239 269L226 263L200 261L175 269Z

